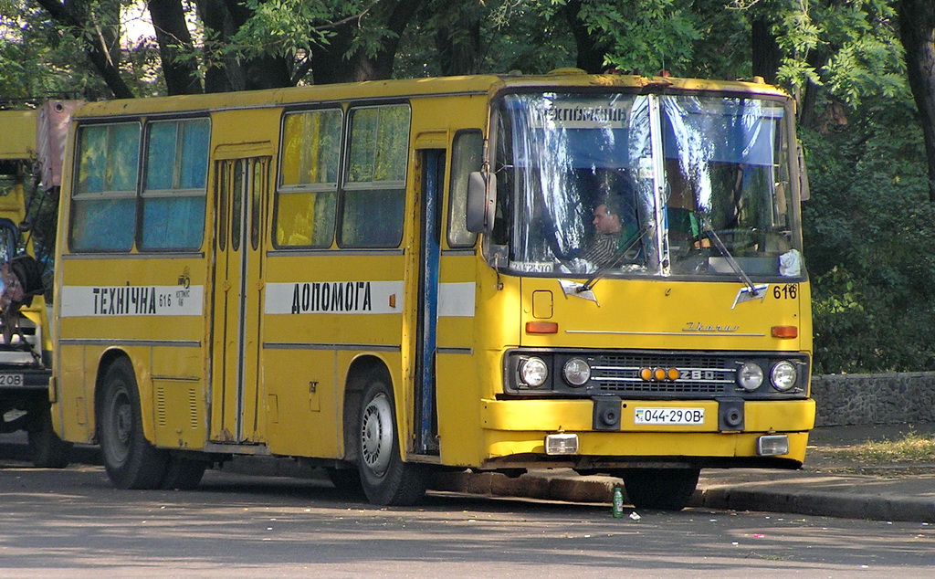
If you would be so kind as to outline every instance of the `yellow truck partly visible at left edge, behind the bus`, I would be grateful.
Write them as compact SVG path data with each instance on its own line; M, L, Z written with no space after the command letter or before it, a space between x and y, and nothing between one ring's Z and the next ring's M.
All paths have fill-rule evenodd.
M22 235L36 167L36 109L0 110L0 432L25 430L37 467L64 468L69 445L51 427L51 337L42 271Z

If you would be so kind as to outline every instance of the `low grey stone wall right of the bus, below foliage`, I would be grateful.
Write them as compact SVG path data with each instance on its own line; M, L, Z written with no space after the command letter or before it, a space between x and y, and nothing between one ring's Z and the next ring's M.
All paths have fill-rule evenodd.
M812 377L816 427L935 422L935 372Z

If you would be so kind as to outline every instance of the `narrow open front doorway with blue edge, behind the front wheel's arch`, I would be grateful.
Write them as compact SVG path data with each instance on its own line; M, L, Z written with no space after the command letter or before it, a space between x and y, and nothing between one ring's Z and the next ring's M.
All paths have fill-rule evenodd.
M419 152L421 211L419 224L419 292L416 332L415 439L416 453L439 453L439 415L436 404L436 357L439 329L439 260L441 256L441 199L445 151Z

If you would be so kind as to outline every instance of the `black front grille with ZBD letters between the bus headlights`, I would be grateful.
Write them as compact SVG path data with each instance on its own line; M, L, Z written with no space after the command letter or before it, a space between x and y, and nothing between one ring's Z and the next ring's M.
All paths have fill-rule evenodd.
M645 381L640 369L678 369L678 380ZM602 355L591 367L591 390L602 394L711 396L736 391L736 364L719 356Z

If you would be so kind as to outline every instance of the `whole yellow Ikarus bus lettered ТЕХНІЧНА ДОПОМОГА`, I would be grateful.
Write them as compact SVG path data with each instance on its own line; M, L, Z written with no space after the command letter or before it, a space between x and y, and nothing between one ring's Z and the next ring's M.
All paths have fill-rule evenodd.
M701 468L804 459L802 183L762 81L112 101L69 143L53 421L118 487L294 456L378 504L570 468L680 509Z

